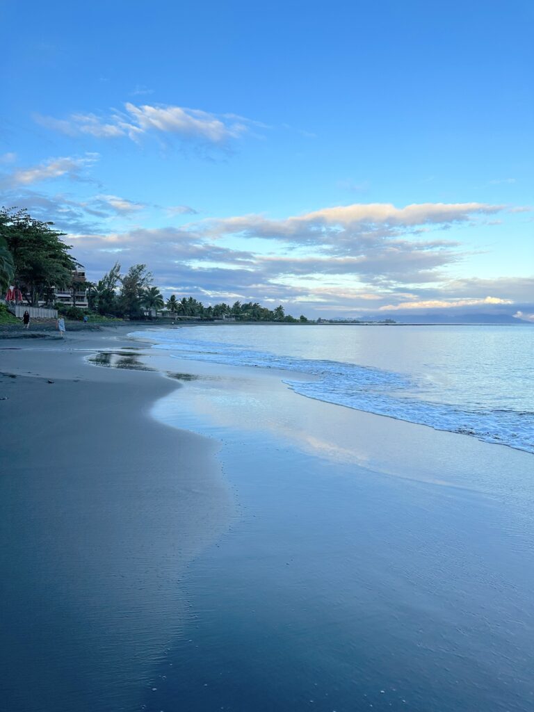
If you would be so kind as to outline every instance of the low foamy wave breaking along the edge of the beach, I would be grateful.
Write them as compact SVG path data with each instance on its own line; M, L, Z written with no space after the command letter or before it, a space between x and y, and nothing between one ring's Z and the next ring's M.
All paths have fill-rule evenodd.
M154 333L141 333L154 338ZM173 356L224 365L254 366L298 372L310 380L284 379L295 393L344 407L387 416L507 445L534 454L534 414L512 409L471 409L424 399L424 389L407 375L334 360L276 355L237 344L177 340L173 332L157 334L155 348Z

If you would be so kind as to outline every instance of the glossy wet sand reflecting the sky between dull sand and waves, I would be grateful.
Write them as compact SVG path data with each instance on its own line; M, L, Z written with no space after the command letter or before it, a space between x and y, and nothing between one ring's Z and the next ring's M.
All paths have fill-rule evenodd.
M220 368L154 411L224 443L241 520L146 709L529 711L531 456Z

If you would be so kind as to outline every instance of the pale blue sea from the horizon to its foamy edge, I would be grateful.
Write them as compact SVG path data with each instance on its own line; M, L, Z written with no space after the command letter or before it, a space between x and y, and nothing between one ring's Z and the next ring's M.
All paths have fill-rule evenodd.
M180 359L283 370L305 397L534 453L530 325L199 326L136 336Z

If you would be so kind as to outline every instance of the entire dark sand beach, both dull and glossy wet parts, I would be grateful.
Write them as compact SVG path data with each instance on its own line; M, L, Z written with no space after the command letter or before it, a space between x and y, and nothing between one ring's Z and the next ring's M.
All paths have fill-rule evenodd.
M126 332L3 344L6 711L530 711L530 455Z

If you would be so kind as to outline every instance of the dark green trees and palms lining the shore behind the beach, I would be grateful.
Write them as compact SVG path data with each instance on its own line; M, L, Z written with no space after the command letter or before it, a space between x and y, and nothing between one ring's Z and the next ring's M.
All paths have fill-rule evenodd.
M0 209L0 288L20 290L29 306L56 307L68 318L153 318L167 313L174 318L214 320L229 318L241 321L278 323L308 323L304 315L298 319L286 314L282 305L268 309L258 302L239 300L204 305L191 296L172 294L167 300L155 286L152 273L145 264L136 264L122 273L116 262L96 283L83 281L78 274L81 265L70 254L71 247L61 239L65 234L54 229L52 222L31 217L26 209ZM58 288L72 292L72 304L55 302ZM76 306L75 294L87 291L88 310Z

